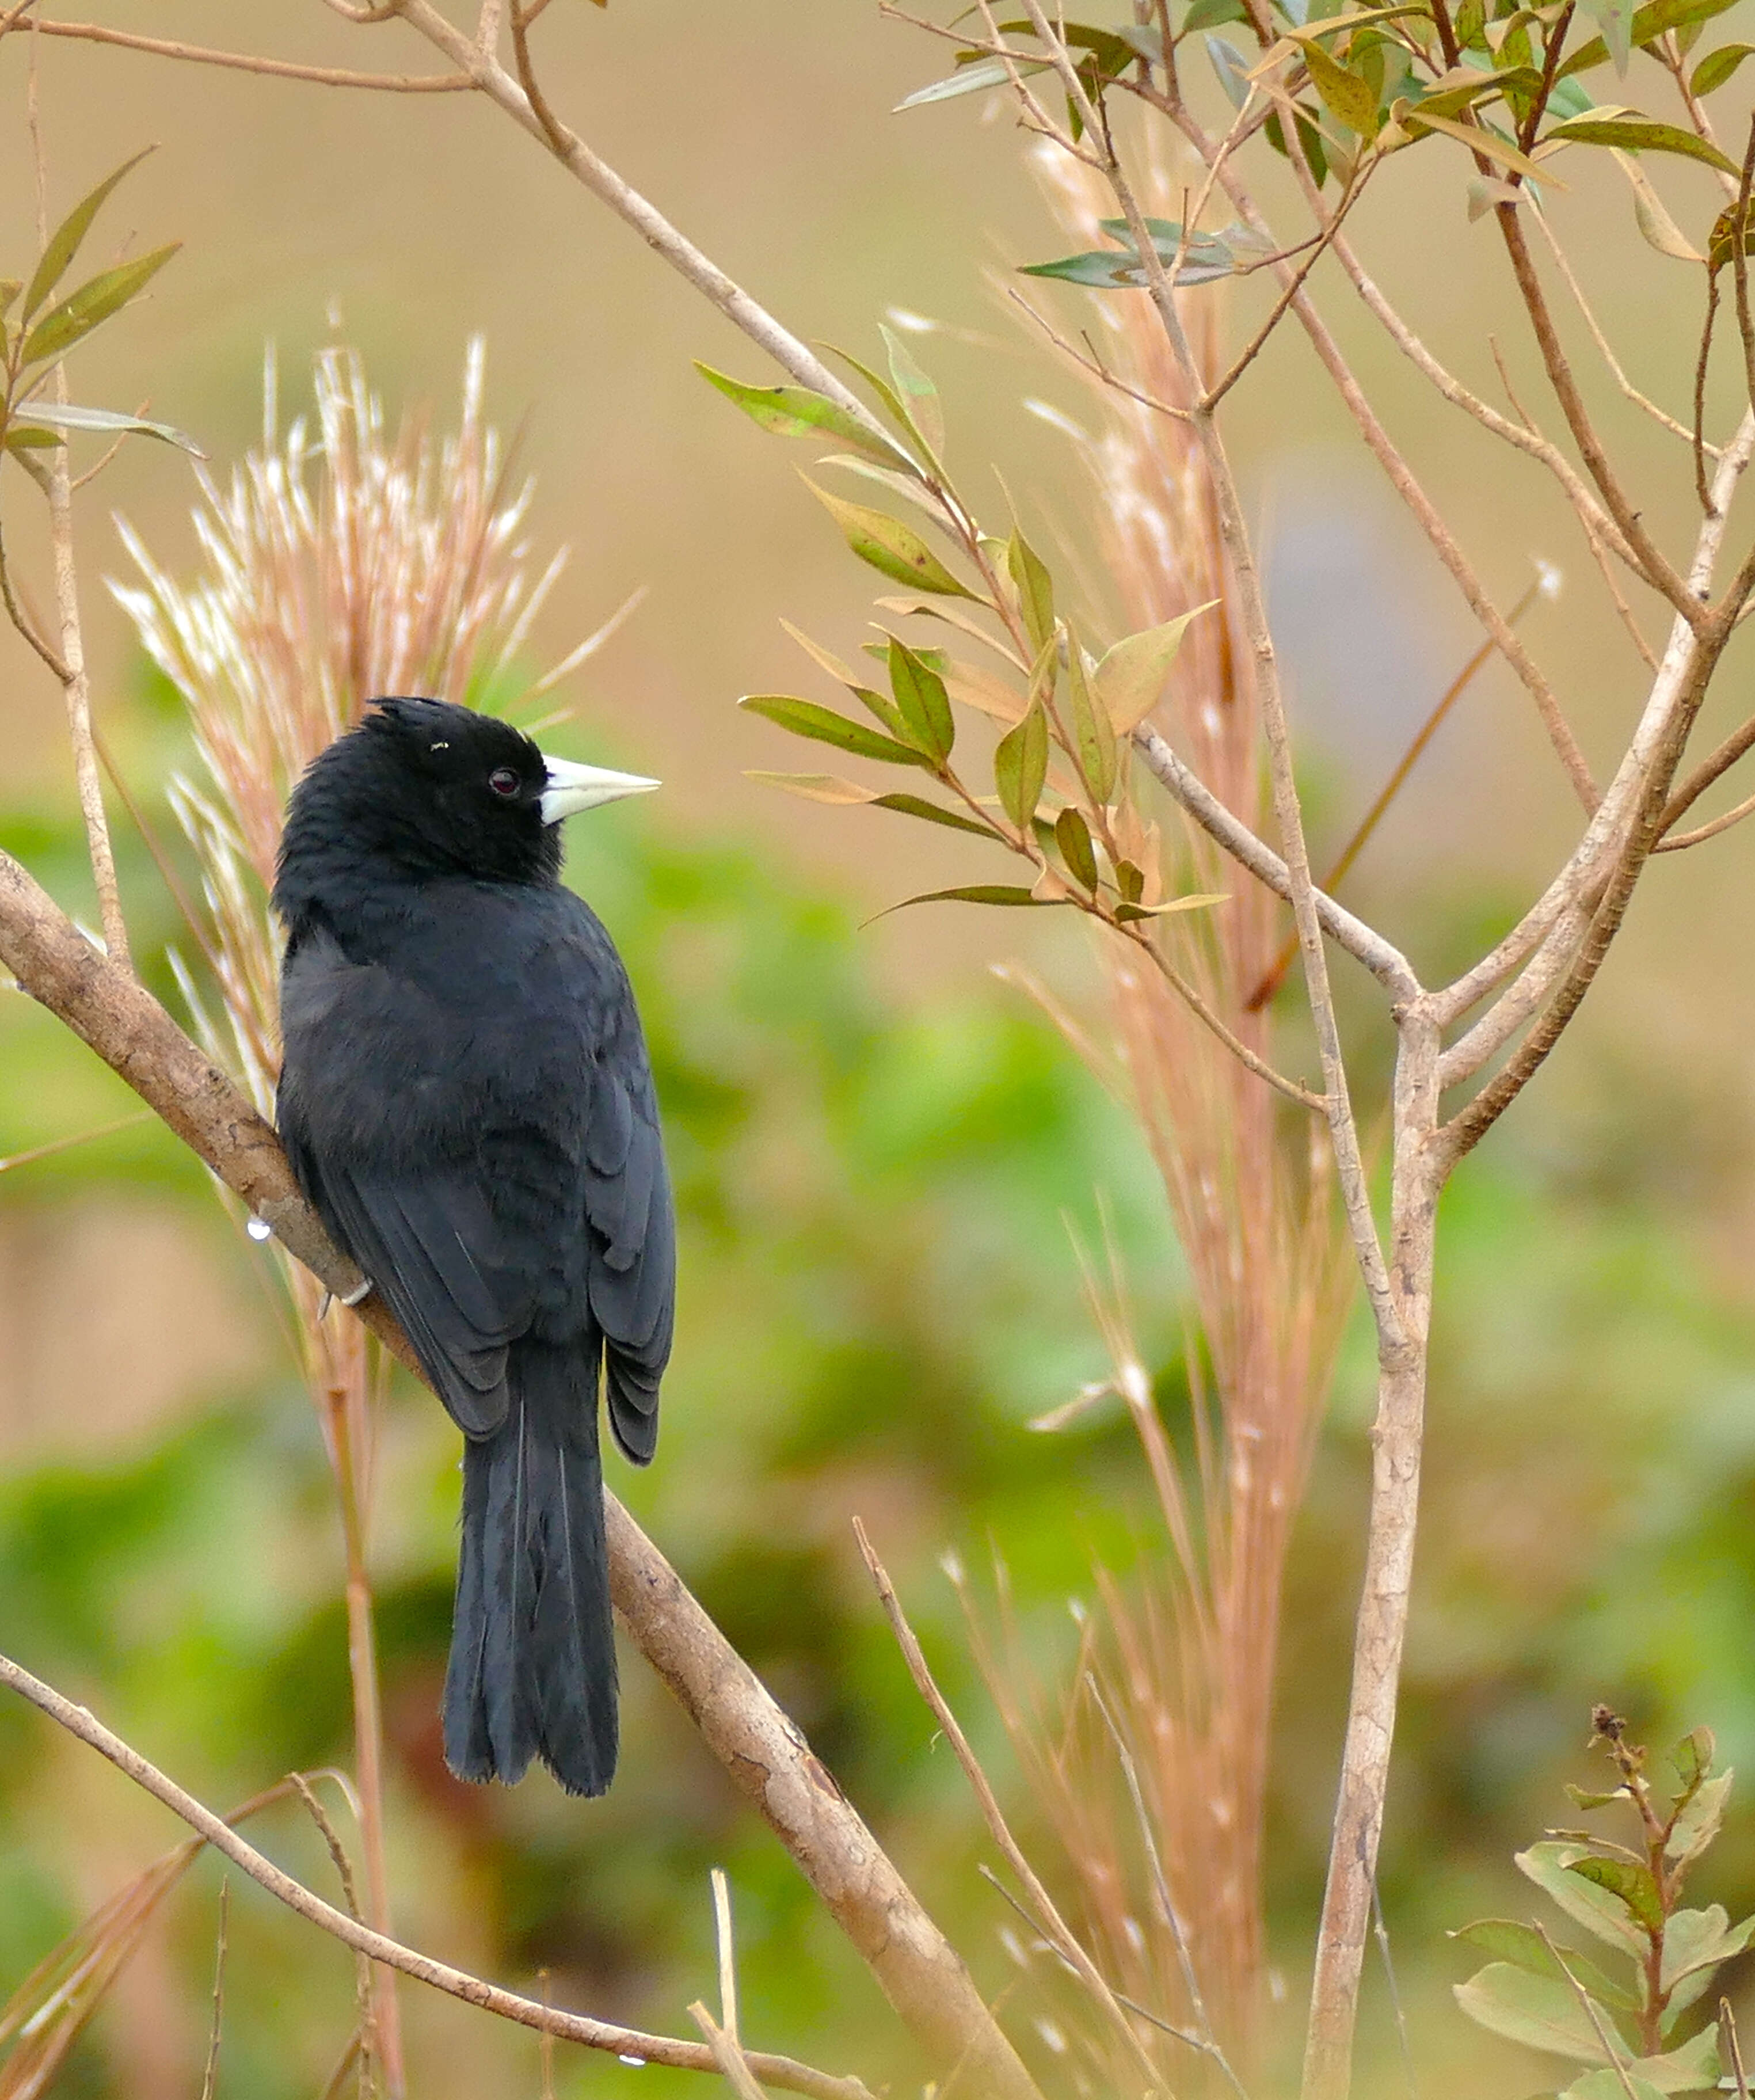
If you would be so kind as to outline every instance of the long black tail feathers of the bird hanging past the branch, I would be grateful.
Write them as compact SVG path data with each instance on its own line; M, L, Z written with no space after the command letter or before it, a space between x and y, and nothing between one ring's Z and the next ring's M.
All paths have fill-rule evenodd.
M514 1342L506 1422L464 1445L464 1516L445 1762L569 1793L615 1777L615 1636L602 1539L596 1361Z

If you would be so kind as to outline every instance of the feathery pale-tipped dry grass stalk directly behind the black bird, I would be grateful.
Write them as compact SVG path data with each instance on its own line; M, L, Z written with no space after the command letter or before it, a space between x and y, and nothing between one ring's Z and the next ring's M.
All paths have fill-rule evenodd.
M189 710L199 779L172 804L202 867L191 926L208 966L181 968L210 1052L273 1113L279 1071L279 937L269 911L286 798L304 766L384 693L445 699L550 691L609 632L542 678L519 678L531 622L561 573L531 580L521 538L529 485L510 491L483 420L483 346L470 344L458 430L435 443L420 414L386 435L357 353L315 370L315 426L279 433L275 368L265 428L220 487L204 475L195 533L204 573L176 582L124 525L143 582L115 588L153 662ZM348 1670L369 1924L390 1932L384 1865L384 1735L372 1630L369 1512L384 1359L359 1321L332 1312L317 1279L277 1250L300 1367L323 1426L346 1560ZM363 2037L388 2092L403 2087L390 1972Z

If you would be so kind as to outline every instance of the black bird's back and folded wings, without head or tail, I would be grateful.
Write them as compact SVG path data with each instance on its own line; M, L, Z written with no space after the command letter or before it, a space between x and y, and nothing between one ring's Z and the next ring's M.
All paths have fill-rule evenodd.
M281 972L279 1126L330 1231L470 1434L521 1338L602 1348L651 1457L674 1224L621 960L558 886L443 880L317 901Z

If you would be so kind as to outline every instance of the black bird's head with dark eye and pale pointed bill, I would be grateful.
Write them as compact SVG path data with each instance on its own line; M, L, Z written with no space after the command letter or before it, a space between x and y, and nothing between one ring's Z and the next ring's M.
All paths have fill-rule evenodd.
M275 903L342 867L405 880L552 882L561 819L657 781L550 758L491 714L380 699L304 771L288 804Z

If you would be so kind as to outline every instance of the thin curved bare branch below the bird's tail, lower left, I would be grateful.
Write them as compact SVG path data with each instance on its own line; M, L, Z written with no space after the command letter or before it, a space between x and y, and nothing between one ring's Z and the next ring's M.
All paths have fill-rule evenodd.
M216 1816L212 1808L197 1802L193 1793L185 1793L157 1766L147 1764L136 1749L105 1728L86 1707L63 1699L61 1693L44 1684L42 1678L34 1678L29 1670L21 1670L6 1655L0 1655L0 1684L27 1699L69 1735L88 1743L99 1756L109 1758L118 1772L124 1772L136 1787L164 1802L172 1814L183 1816L189 1829L199 1831L233 1867L248 1873L252 1882L267 1888L271 1896L306 1924L332 1934L355 1953L367 1955L372 1961L382 1961L384 1968L401 1970L405 1976L414 1976L416 1982L432 1984L435 1991L445 1991L449 1997L460 1997L466 2006L479 2006L483 2012L498 2014L502 2020L516 2020L519 2026L533 2026L544 2035L558 2035L563 2041L577 2041L588 2050L607 2050L613 2056L638 2056L640 2062L668 2064L674 2071L718 2071L714 2052L705 2043L676 2041L670 2035L647 2035L636 2026L613 2026L609 2020L592 2020L582 2012L561 2012L554 2006L540 2006L535 1999L519 1997L516 1991L502 1991L498 1984L483 1982L481 1976L453 1970L445 1961L435 1961L430 1955L416 1953L411 1947L403 1947L399 1940L361 1926L346 1911L338 1911L334 1905L323 1903L321 1896L313 1896L302 1882L294 1882L290 1873L283 1873L246 1838L239 1838L223 1816ZM752 2054L749 2064L768 2083L785 2092L808 2094L810 2100L871 2100L859 2079L838 2079L827 2071L812 2071L808 2064L794 2062L789 2056Z

